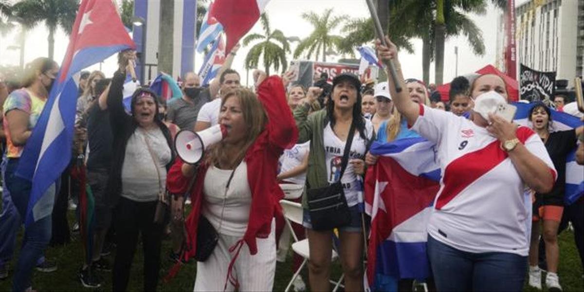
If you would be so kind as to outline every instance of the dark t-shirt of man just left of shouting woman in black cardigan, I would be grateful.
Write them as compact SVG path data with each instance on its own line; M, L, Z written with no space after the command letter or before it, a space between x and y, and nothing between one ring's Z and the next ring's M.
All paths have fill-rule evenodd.
M109 170L112 165L112 128L109 111L100 109L98 102L93 103L88 110L87 139L89 141L87 169Z

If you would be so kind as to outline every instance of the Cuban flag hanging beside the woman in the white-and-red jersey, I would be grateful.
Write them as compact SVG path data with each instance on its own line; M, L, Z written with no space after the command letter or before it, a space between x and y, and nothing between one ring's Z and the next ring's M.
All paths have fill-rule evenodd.
M365 287L397 291L399 279L425 279L427 231L440 166L422 137L374 142L377 164L367 170L365 210L371 216Z

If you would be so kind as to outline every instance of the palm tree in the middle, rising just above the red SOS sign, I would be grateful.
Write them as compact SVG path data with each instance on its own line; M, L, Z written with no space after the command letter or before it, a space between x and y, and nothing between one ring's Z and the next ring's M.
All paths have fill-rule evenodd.
M314 31L310 36L300 41L298 47L294 50L294 58L298 58L301 54L306 53L306 57L310 59L312 53L314 53L315 60L318 60L318 54L322 49L322 61L326 62L326 49L331 47L339 48L342 37L332 35L331 33L347 16L331 16L331 13L332 8L326 9L320 16L314 12L305 12L302 14L302 18L314 26Z

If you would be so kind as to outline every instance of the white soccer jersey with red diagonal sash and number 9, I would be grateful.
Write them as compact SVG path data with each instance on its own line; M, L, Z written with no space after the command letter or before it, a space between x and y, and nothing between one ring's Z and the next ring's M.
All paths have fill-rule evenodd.
M420 105L412 130L436 143L440 190L428 223L436 240L467 252L527 256L531 200L500 142L471 120ZM557 177L540 137L519 127L517 138Z

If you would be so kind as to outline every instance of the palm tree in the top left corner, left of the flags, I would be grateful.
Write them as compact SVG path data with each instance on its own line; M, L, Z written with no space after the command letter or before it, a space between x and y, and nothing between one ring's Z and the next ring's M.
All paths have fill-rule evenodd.
M28 29L42 21L45 22L48 28L48 57L53 59L55 30L57 26L60 26L65 33L71 34L79 2L77 0L20 1L12 8L14 14L27 23Z

